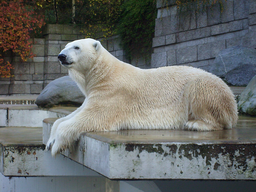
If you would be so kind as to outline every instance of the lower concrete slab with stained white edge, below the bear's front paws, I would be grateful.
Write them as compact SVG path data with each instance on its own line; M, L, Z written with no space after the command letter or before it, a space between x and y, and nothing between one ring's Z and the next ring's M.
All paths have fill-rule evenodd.
M42 143L42 127L0 128L0 172L4 176L99 176L68 158L52 158Z

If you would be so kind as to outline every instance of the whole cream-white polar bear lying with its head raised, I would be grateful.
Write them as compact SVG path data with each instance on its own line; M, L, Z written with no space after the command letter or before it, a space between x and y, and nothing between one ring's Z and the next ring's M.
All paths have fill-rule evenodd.
M68 43L58 58L86 99L76 111L54 122L47 143L53 156L70 148L85 131L211 131L236 125L237 104L231 90L201 69L139 69L90 38Z

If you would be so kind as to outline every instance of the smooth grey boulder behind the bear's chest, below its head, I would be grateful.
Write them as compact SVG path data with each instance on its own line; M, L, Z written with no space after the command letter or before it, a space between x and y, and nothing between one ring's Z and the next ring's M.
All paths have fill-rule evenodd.
M38 107L50 108L57 105L79 106L85 96L69 76L50 82L36 99Z

